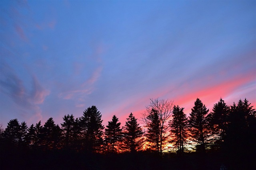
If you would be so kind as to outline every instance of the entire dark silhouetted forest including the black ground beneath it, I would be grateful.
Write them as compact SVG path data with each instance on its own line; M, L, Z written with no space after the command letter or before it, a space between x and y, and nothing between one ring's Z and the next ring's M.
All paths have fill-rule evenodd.
M256 168L256 111L245 98L212 111L197 98L191 113L171 100L150 104L125 125L113 115L102 125L96 106L81 117L50 117L28 127L0 127L0 169L251 170Z

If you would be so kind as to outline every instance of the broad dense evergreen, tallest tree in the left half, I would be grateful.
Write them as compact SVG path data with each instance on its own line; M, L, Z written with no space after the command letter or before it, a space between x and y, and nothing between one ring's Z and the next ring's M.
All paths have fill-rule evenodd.
M80 117L83 147L88 152L100 150L103 144L103 129L101 113L96 106L88 107Z

